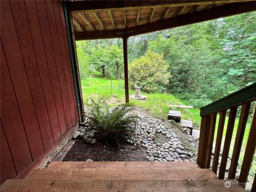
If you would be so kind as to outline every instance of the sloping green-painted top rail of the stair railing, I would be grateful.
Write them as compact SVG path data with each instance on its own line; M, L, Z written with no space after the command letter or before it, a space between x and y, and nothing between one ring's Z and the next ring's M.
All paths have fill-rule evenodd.
M244 87L226 97L219 99L200 109L200 116L210 115L223 109L239 105L246 101L256 100L256 83Z

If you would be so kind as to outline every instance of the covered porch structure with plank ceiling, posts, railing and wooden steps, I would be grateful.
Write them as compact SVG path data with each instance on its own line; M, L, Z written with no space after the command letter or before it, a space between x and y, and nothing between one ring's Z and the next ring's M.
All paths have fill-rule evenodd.
M256 10L255 1L64 1L70 61L79 123L84 122L84 105L75 42L85 39L122 38L124 51L125 102L129 102L127 40L191 23ZM197 162L52 162L47 169L30 171L23 180L7 180L3 191L244 191L256 147L255 106L247 140L241 177L235 180L246 121L251 102L256 100L256 83L201 109L201 132ZM225 178L228 151L239 116L234 153L228 180ZM223 125L227 110L228 131L219 164ZM211 165L217 114L220 114L217 143ZM218 175L217 175L218 173ZM256 190L254 178L252 191Z

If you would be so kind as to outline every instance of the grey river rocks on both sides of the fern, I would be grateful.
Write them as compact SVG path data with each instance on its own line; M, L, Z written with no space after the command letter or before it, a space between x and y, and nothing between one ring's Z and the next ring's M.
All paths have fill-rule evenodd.
M137 148L136 154L139 151L141 152L138 154L140 158L143 156L145 161L150 162L195 161L196 153L191 153L191 151L183 147L179 136L170 129L170 126L167 126L166 123L159 119L152 118L150 114L144 111L135 110L132 113L137 114L140 118L138 119L137 125L134 126L135 134L127 138L126 142L130 146ZM175 127L175 129L179 130L178 127ZM94 134L97 134L97 131L88 123L85 123L73 134L73 139L83 140L84 143L89 145L87 147L92 147L97 143L96 139L94 139ZM95 150L95 147L97 146L93 146L92 148ZM125 161L125 159L122 160Z

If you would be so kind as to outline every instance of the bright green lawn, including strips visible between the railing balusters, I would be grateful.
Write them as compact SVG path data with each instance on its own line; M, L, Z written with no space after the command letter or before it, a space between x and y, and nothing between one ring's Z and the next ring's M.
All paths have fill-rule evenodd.
M112 89L111 89L111 84L112 84ZM113 98L113 95L116 95L116 100L119 102L124 102L125 101L125 91L124 91L124 81L118 81L117 79L113 79L111 83L111 79L105 79L105 78L87 78L86 80L81 81L81 86L82 86L82 91L83 91L83 98L84 102L86 103L87 99L89 99L91 96L93 98L101 98L102 96L110 99ZM135 94L134 91L129 90L130 94ZM175 95L172 94L166 94L166 93L141 93L147 96L147 99L145 101L140 101L140 100L130 100L133 105L141 107L143 109L150 110L151 113L153 114L154 117L166 119L167 118L167 113L169 111L169 106L170 105L189 105L187 101L181 100ZM116 101L115 100L115 101ZM110 102L110 105L116 105L116 103ZM175 108L174 108L175 110ZM193 108L193 109L178 109L181 111L181 116L182 119L189 119L193 121L193 123L199 127L200 122L201 122L201 117L200 117L200 110ZM236 132L237 132L237 126L238 126L238 121L239 119L237 118L235 121L235 126L234 126L234 132L233 132L233 137L231 140L231 147L230 149L233 149L234 142L235 142L235 137L236 137ZM217 129L218 129L218 123L219 123L219 115L217 115L217 122L216 122L216 129L215 129L215 137L214 141L216 140L217 137ZM227 123L228 123L228 117L226 117L225 121L225 126L223 130L223 137L222 137L222 145L225 141L225 135L227 131ZM242 159L244 157L244 151L246 147L246 141L249 135L250 131L250 121L247 122L246 124L246 129L245 129L245 134L244 134L244 141L242 144L242 149L241 149L241 155L239 157L239 163L238 167L241 168L242 164ZM231 157L233 150L229 151L229 157ZM253 157L254 161L252 163L252 169L250 170L250 175L253 178L253 175L255 174L256 171L256 155L254 154Z

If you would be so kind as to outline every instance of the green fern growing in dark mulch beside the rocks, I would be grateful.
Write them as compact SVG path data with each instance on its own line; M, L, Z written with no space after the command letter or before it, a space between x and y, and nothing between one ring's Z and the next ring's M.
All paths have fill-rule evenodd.
M89 124L96 127L98 140L107 140L119 146L127 136L132 135L137 124L137 115L130 113L133 106L124 103L109 108L105 101L92 100L88 109Z

